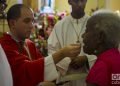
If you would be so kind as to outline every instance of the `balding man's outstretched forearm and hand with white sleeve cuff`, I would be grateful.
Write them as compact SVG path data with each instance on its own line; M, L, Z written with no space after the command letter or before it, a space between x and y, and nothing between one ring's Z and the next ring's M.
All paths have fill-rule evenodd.
M45 81L55 80L58 77L55 64L57 64L59 61L61 61L67 56L70 59L74 59L79 53L80 53L79 45L70 45L55 52L54 54L52 54L52 57L50 56L46 57L44 74Z

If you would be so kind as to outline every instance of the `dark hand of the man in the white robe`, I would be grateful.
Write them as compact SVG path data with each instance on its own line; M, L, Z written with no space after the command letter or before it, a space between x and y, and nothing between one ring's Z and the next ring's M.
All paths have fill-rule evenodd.
M79 69L86 65L87 62L88 62L87 56L78 56L71 61L70 67L72 67L73 69Z

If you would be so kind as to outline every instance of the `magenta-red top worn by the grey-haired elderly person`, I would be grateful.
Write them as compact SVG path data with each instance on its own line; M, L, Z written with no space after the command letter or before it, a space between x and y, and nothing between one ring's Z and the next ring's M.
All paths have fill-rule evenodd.
M119 74L120 79L120 53L118 49L110 49L98 56L86 82L97 86L120 86L120 80L117 82L112 80L112 74Z

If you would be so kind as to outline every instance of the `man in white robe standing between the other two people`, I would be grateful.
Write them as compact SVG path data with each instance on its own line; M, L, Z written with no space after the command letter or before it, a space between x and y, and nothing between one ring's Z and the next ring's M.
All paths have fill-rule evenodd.
M69 44L80 43L81 45L83 45L81 36L85 32L86 23L89 19L89 16L86 15L84 12L86 2L87 0L68 0L68 3L72 6L71 15L65 17L63 20L59 21L55 25L48 39L48 54L52 54ZM81 49L81 53L78 57L80 59L87 57L90 67L94 64L96 60L95 56L86 55L83 52L83 49ZM86 64L78 69L74 69L73 67L69 66L70 64L71 60L68 57L57 64L57 68L60 72L58 82L61 81L61 77L64 77L68 74L78 74L78 76L81 74L82 76L82 74L86 73L87 75L88 69ZM77 64L79 65L80 63ZM86 86L86 77L81 77L80 79L78 77L78 80L76 80L75 76L74 78L72 78L71 81L64 86Z

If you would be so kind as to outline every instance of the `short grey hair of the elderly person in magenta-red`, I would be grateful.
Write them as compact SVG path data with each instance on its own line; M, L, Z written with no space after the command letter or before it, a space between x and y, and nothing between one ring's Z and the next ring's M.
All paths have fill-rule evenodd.
M118 47L120 43L120 17L110 10L99 10L93 13L88 24L103 32L106 47Z

